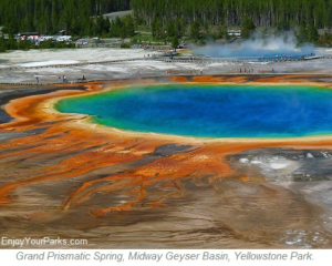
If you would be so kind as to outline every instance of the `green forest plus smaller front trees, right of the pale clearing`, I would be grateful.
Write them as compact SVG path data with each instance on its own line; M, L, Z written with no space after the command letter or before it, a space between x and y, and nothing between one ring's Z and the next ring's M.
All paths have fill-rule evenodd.
M273 33L295 30L300 42L332 41L328 33L318 34L332 28L331 0L132 0L131 6L136 22L149 25L157 40L175 33L199 42L229 39L229 28L249 38L257 28L272 28Z

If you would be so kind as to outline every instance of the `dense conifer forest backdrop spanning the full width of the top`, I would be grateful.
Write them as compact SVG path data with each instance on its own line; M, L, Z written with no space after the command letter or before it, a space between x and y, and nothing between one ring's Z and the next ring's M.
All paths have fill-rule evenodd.
M131 8L136 23L152 27L157 37L162 28L181 35L195 21L205 28L240 27L245 19L264 28L332 28L332 0L1 0L0 25L11 33L93 35L108 32L107 22L96 23L101 14Z

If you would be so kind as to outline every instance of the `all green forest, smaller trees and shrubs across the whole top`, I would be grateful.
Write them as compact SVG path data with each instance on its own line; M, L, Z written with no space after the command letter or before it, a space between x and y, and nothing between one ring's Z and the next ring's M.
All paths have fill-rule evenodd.
M102 16L131 8L133 17L110 22ZM138 43L167 42L173 47L188 39L199 43L228 40L232 38L228 29L241 29L245 39L257 29L277 34L295 30L300 43L331 45L332 0L1 0L0 24L10 35L25 31L56 34L65 30L74 37L135 35ZM135 34L137 28L143 33ZM325 33L320 37L318 29ZM10 40L1 44L0 51L24 45L28 47Z

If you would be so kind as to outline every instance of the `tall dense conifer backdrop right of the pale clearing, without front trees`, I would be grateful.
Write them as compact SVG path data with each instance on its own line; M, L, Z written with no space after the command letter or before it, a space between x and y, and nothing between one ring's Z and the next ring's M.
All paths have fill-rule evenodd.
M246 18L257 27L291 27L301 22L317 28L332 27L332 0L132 0L136 19L152 25L156 18L163 24L184 19L187 24L226 24L239 27Z

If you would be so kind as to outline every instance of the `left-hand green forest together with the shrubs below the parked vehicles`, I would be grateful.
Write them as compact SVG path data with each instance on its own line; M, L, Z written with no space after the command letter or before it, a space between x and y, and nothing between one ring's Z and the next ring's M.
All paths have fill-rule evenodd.
M38 48L72 48L73 43L17 41L19 32L58 34L64 30L75 37L98 35L127 38L135 34L132 16L110 22L102 14L129 9L129 0L1 0L0 25L9 40L0 41L0 52Z

